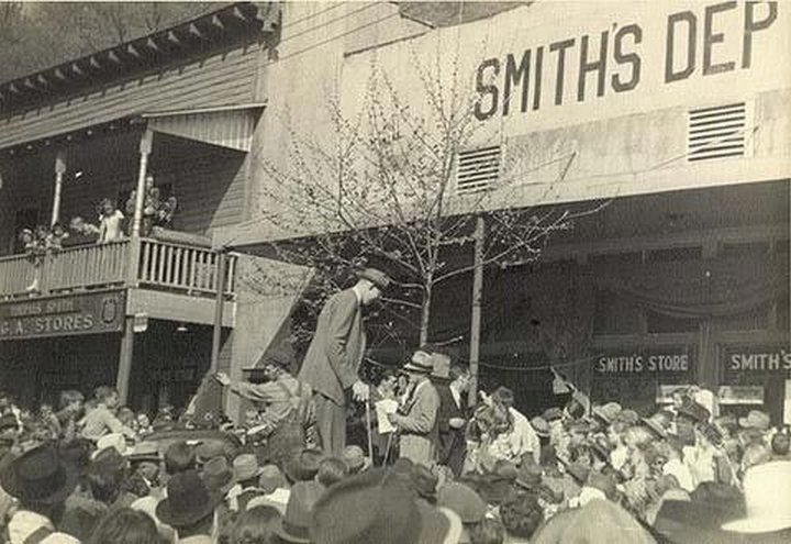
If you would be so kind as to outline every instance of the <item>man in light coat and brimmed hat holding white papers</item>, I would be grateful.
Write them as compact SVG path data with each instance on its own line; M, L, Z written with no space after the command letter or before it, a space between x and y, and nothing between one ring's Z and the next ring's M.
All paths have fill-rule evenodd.
M433 369L432 356L423 351L415 352L403 367L411 390L399 412L389 414L390 422L399 431L401 457L430 468L436 462L439 411L439 393L428 379Z

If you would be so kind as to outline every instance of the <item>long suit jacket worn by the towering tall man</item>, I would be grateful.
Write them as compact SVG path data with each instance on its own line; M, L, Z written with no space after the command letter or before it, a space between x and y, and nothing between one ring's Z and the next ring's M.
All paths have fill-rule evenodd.
M345 404L344 390L357 381L365 345L357 296L352 289L333 295L319 315L299 380L337 404Z

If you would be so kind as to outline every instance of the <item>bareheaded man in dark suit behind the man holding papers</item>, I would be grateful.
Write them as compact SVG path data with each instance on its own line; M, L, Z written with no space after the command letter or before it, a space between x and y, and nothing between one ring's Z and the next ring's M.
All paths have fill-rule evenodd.
M466 391L469 388L469 370L460 365L450 366L449 384L437 385L439 393L439 442L437 462L458 477L461 475L467 451L465 425L467 424Z

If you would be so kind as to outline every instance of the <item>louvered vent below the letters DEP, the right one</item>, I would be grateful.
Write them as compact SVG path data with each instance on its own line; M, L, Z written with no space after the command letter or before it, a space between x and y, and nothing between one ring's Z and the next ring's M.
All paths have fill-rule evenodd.
M690 110L687 160L743 157L750 124L746 102Z

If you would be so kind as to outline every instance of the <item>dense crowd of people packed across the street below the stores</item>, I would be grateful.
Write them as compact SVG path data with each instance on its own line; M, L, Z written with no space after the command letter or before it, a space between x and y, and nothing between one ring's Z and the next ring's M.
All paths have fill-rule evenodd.
M468 407L466 367L424 346L371 386L369 445L323 451L311 391L285 363L260 384L212 379L255 400L234 447L159 441L196 429L149 418L110 387L57 410L0 396L5 542L544 543L789 542L788 429L767 413L715 417L706 390L640 417L575 391L532 418L506 387ZM381 413L380 413L380 417ZM294 431L294 428L298 428ZM152 434L154 433L154 434ZM278 438L279 436L279 438ZM393 440L394 438L394 440Z

